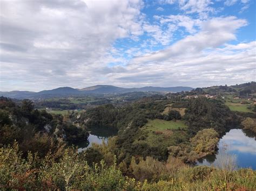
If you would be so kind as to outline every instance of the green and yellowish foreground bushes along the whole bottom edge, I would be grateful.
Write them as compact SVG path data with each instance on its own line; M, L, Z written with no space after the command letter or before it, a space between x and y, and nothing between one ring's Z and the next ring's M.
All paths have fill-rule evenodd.
M60 153L61 152L61 153ZM85 153L86 154L86 153ZM169 158L159 162L142 158L131 166L134 176L128 178L104 161L87 165L84 153L75 148L49 152L45 158L28 153L23 158L18 144L0 148L1 190L255 190L256 171L225 171L212 167L188 167ZM148 181L149 179L150 181Z

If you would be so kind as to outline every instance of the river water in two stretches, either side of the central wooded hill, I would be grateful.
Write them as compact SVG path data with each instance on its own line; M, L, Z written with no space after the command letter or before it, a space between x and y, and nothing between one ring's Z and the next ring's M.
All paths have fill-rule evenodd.
M78 152L91 147L92 143L106 143L114 135L117 135L116 129L94 128L88 141L77 144ZM224 155L228 154L238 167L256 170L256 135L252 131L232 129L220 138L218 148L216 154L198 160L197 165L218 166L224 160Z

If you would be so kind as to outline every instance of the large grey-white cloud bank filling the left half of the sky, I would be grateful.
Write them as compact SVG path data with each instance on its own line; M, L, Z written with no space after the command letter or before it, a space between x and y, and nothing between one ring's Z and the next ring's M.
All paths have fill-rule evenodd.
M142 7L139 0L1 1L1 88L94 84L97 68L117 61L114 41L143 34Z

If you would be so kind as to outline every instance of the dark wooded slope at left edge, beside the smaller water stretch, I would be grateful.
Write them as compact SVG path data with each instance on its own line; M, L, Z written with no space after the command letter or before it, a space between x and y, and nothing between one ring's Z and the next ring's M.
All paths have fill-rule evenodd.
M58 144L76 143L89 136L85 129L77 128L62 115L34 109L30 100L17 105L1 97L0 109L0 145L16 140L22 151L45 155Z

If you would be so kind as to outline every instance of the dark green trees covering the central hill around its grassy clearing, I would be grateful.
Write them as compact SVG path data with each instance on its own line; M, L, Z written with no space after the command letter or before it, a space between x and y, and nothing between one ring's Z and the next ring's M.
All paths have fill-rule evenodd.
M174 108L186 108L185 116L181 117L176 110L164 114L163 111L167 104L171 104ZM184 120L188 129L177 130L178 135L182 136L177 137L173 145L169 145L175 148L174 156L179 156L184 162L193 162L206 154L213 153L215 145L218 143L217 137L228 130L228 125L239 122L238 118L221 101L209 100L204 97L180 101L177 99L156 101L144 98L122 107L114 107L111 104L100 105L80 115L80 123L91 129L94 126L105 126L106 128L112 126L119 129L113 154L117 155L118 162L125 161L127 166L130 165L131 157L135 155L167 160L169 154L174 152L171 147L152 146L145 142L137 142L138 139L145 139L144 131L141 129L148 119ZM214 131L211 132L214 139L213 144L207 145L202 142L201 144L208 146L206 146L206 150L198 148L200 146L194 147L190 138L197 135L199 131L210 128ZM208 143L210 142L211 140Z

